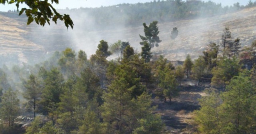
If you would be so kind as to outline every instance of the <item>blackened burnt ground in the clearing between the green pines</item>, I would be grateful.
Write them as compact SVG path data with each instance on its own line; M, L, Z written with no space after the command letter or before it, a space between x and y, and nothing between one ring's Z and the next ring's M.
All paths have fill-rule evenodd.
M205 95L203 92L210 83L202 83L197 86L196 81L183 81L178 97L166 102L155 97L153 105L158 105L156 113L160 114L170 134L192 134L194 128L191 125L192 112L198 110L198 99Z

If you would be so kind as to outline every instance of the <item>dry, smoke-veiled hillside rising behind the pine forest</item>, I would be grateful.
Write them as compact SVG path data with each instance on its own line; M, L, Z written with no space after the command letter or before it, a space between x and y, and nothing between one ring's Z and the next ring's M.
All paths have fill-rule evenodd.
M32 63L48 57L48 53L63 51L66 47L72 47L76 51L83 49L91 55L95 53L101 39L109 44L118 40L129 41L140 51L139 34L143 35L142 24L99 30L94 20L90 19L92 16L81 13L75 16L73 14L74 29L67 30L62 22L42 28L35 24L26 26L24 18L9 16L0 12L1 64L10 63L12 60L14 63ZM250 45L256 39L255 20L256 7L253 7L208 18L160 22L158 27L162 42L159 47L152 48L152 52L164 55L168 60L184 60L187 54L196 58L202 54L209 42L220 43L225 27L230 28L233 39L240 38L242 46ZM171 40L170 32L174 27L178 28L179 35Z

